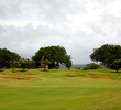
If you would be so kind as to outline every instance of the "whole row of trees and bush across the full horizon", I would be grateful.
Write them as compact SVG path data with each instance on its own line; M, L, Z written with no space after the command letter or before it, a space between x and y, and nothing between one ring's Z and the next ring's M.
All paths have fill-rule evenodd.
M121 46L105 44L94 50L90 59L118 72L121 68ZM46 67L48 69L59 68L61 64L69 69L73 62L72 56L59 45L41 47L31 59L22 58L19 54L7 48L0 48L0 69L12 68L14 72L15 68L24 70L25 68L43 67L45 70ZM85 69L96 69L98 67L97 64L90 63Z

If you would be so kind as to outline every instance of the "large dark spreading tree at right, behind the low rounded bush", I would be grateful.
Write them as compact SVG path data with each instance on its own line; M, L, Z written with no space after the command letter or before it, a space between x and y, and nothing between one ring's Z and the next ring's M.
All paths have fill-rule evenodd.
M95 48L90 58L95 62L100 62L106 67L114 69L114 61L121 58L121 46L120 45L102 45L99 48Z

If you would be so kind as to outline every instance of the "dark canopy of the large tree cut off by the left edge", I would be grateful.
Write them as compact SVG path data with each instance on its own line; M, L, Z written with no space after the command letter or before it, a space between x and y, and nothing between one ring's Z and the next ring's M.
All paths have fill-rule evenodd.
M10 52L7 48L0 48L0 68L2 67L11 67L11 62L18 61L20 56L14 53Z

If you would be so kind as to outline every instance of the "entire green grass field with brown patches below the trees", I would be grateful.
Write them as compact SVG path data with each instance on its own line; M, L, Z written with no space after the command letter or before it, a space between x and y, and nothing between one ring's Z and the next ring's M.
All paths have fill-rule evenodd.
M121 110L120 74L110 69L7 69L0 72L0 110Z

